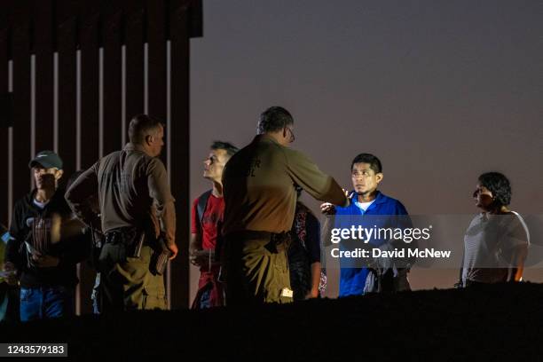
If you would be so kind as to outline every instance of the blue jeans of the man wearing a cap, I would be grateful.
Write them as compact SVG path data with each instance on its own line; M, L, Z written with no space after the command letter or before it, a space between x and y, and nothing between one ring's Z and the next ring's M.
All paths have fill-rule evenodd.
M20 288L20 320L22 322L73 315L73 288L62 286Z

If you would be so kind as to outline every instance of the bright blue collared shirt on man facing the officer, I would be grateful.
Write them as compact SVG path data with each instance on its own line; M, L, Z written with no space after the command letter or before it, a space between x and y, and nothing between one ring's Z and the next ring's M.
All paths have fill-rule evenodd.
M357 194L354 193L354 197L357 197ZM405 206L396 199L392 199L389 196L386 196L385 194L381 192L377 192L377 196L375 197L374 203L370 205L370 207L366 210L366 212L363 212L361 209L359 209L354 202L350 202L350 206L347 208L341 208L336 207L335 208L335 215L336 216L357 216L356 220L360 223L362 218L359 216L379 216L379 215L408 215L407 210L405 209ZM342 224L342 222L346 222L348 218L343 220L342 217L339 219L336 218L336 227L342 227L341 225L338 225L338 223ZM342 220L338 221L338 220ZM390 217L384 217L382 218L381 223L379 221L376 221L375 218L372 218L372 224L366 225L368 226L374 226L375 223L377 223L377 227L395 227L395 226L401 226L401 225L391 225L390 222L395 222L394 218ZM387 224L389 223L389 224ZM383 243L387 242L387 240L372 240L371 243L374 246L381 246ZM364 294L364 287L366 285L366 277L368 274L367 268L345 268L342 267L341 273L340 273L340 293L339 296L347 296L347 295L363 295Z

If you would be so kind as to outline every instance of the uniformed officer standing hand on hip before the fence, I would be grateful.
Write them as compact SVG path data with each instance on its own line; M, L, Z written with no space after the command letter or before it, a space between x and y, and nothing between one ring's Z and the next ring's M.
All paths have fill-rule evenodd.
M106 235L99 256L105 312L167 308L163 276L151 263L161 251L177 256L175 200L157 158L163 136L161 122L135 116L130 143L98 160L66 193L75 215ZM101 219L89 202L97 194Z

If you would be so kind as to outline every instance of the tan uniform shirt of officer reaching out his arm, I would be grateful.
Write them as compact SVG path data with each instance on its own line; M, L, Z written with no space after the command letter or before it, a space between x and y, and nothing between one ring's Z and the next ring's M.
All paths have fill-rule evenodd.
M303 153L269 136L256 136L224 168L224 235L289 231L295 216L295 184L317 200L341 206L348 202L334 178Z

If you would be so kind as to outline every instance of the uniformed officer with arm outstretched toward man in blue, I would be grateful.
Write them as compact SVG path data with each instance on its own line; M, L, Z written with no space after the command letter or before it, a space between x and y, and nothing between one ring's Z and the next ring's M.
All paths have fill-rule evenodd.
M333 177L288 147L295 140L294 119L285 108L264 111L257 130L223 175L228 305L293 301L286 249L295 184L318 200L349 204Z

